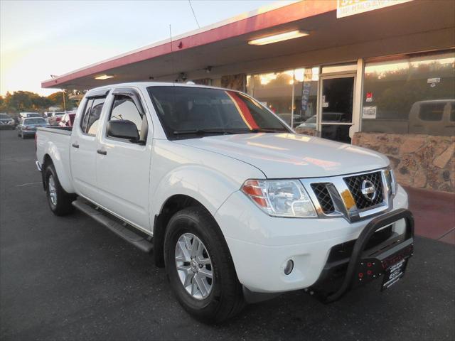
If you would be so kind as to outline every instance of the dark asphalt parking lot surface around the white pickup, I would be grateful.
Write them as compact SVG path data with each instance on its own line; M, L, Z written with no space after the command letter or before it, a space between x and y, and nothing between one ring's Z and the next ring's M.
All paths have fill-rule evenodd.
M33 139L0 131L1 340L455 338L455 249L422 237L387 291L371 283L329 305L297 291L223 325L198 323L151 255L79 212L51 214L34 153Z

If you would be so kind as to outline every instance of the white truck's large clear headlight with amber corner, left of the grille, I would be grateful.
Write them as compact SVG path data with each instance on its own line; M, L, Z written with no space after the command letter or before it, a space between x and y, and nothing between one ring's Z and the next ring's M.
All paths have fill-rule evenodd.
M299 180L247 180L242 185L242 192L274 217L318 216Z

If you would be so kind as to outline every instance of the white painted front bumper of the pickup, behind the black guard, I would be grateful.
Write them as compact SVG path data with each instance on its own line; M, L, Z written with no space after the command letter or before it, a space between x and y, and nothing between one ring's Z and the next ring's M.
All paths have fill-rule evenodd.
M407 205L407 195L399 187L393 207L398 210ZM331 249L358 239L372 221L269 217L240 192L232 193L216 212L215 220L228 243L240 283L257 293L279 293L314 285ZM392 230L402 232L402 223L392 223ZM285 275L283 270L289 259L294 261L294 269Z

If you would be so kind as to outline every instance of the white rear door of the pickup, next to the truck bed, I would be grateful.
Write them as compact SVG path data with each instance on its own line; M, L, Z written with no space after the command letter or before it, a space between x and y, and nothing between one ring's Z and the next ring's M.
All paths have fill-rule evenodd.
M71 174L75 190L95 202L100 199L96 178L97 134L105 101L106 90L84 99L70 141Z

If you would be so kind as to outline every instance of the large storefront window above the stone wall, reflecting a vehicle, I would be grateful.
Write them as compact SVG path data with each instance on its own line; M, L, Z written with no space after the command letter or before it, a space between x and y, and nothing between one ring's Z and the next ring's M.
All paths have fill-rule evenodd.
M454 108L455 52L365 65L362 131L453 136Z

